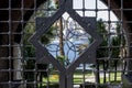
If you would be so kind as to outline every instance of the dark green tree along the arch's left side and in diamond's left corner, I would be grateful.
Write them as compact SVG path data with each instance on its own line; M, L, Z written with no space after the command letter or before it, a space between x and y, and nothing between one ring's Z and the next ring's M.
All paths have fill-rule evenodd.
M45 3L46 4L46 3ZM41 9L47 9L47 8L53 8L51 6L51 1L48 1L48 6L45 7L45 4L41 6L40 8ZM51 15L52 12L48 14ZM35 24L34 23L30 23L31 21L34 21L34 18L33 16L46 16L47 14L45 12L42 12L42 11L37 11L36 14L33 14L29 21L29 23L26 23L25 28L24 28L24 37L23 37L23 45L24 47L22 48L23 50L23 56L24 56L24 75L23 77L28 80L28 81L34 81L34 78L36 77L35 76L35 73L34 72L29 72L29 70L34 70L36 67L37 69L45 69L47 68L47 65L46 64L37 64L35 65L35 54L36 54L36 50L31 45L31 43L28 41L31 35L33 34L33 32L35 31ZM54 36L54 29L56 29L55 26L51 26L50 28L50 31L44 34L41 38L40 38L40 42L44 45L51 43L51 40L52 37ZM45 72L38 72L37 73L37 78L38 78L38 81L42 82L43 80L43 77L46 77L47 76L47 73ZM37 79L36 78L36 79ZM42 87L42 84L40 84L40 87ZM33 88L33 85L28 85L28 88Z

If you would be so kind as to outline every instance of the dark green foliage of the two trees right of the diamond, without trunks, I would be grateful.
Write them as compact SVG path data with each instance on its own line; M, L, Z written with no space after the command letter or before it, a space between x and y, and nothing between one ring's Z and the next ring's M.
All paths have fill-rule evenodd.
M102 43L100 44L100 47L97 50L97 58L103 58L103 57L109 57L111 55L111 58L118 58L120 55L120 45L125 44L124 36L120 34L120 24L117 23L116 25L116 33L118 35L109 35L109 31L106 29L106 24L103 21L100 19L98 20L97 28L98 32L102 36ZM109 40L108 40L109 38ZM110 46L108 48L108 46Z

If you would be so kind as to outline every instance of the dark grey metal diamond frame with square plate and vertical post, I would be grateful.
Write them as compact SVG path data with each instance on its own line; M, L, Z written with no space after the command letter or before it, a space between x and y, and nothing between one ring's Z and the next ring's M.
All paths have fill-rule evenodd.
M37 51L36 62L41 63L51 63L54 67L56 67L59 72L59 88L73 88L73 73L76 67L81 63L95 63L96 61L96 50L100 44L101 38L99 34L96 32L96 19L94 18L81 18L75 10L73 10L73 3L70 0L63 0L59 3L58 11L51 18L41 18L36 19L37 30L30 38L31 43L35 46ZM75 21L81 25L85 31L91 35L94 38L92 44L68 67L64 67L58 61L56 61L46 50L42 43L38 42L38 38L48 31L50 26L58 20L64 12L67 12Z

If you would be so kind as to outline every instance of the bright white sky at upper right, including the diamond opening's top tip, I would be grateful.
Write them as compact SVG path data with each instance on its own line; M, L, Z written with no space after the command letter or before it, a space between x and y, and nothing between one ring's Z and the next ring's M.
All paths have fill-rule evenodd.
M85 3L82 3L85 1ZM96 3L97 1L97 3ZM82 9L85 4L85 9L92 10L92 11L85 11L85 16L96 16L95 9L97 8L99 11L97 12L97 20L102 19L103 21L118 21L118 18L114 15L112 11L108 11L108 7L100 0L73 0L73 8L76 9ZM82 15L82 11L77 11L79 15ZM64 19L67 20L69 16L67 13L65 13ZM109 19L110 18L110 19ZM111 23L112 28L116 28L116 22ZM114 30L111 30L114 32Z

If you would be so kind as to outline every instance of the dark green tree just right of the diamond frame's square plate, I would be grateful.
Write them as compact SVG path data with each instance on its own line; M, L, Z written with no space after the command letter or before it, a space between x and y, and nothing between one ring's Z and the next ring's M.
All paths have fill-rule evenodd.
M102 65L102 68L105 70L105 79L103 81L106 82L106 70L108 68L108 62L105 61L103 58L108 56L108 31L107 31L107 25L103 23L102 19L99 19L97 22L97 29L98 29L98 33L101 34L102 36L102 43L100 44L100 47L97 50L97 70L99 70L100 65ZM99 59L102 58L102 59ZM100 76L99 76L99 72L97 73L97 81L100 82Z

